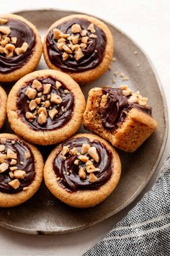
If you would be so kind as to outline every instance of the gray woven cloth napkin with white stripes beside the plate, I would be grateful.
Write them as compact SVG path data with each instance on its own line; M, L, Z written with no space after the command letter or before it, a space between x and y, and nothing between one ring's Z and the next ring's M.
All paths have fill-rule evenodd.
M170 155L156 184L84 256L170 255Z

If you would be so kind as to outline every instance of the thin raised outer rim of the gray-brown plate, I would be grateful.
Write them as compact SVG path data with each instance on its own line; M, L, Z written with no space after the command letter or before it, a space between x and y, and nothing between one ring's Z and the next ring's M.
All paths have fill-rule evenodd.
M86 12L75 12L72 10L63 10L63 9L53 9L53 8L45 8L45 9L24 9L24 10L19 10L17 12L12 12L12 14L18 14L22 13L22 12L44 12L44 11L55 11L55 12L73 12L74 14L86 14ZM92 14L87 14L87 15L91 15L93 17L96 17L95 15ZM117 210L114 210L114 213L107 213L104 217L100 218L97 221L93 221L92 223L86 223L83 226L78 226L76 228L69 228L69 229L63 229L62 231L58 231L58 230L35 230L35 229L27 229L27 228L22 228L19 226L13 226L12 224L9 223L4 223L4 221L0 221L0 226L12 230L12 231L17 231L19 233L22 234L37 234L37 235L42 235L42 234L69 234L75 231L80 231L83 229L87 229L91 226L96 225L97 223L101 223L102 221L106 220L107 218L110 218L111 216L114 216L116 213L120 212L121 210L127 208L137 197L138 195L140 195L140 193L143 191L143 189L146 187L146 185L148 184L148 182L150 182L151 177L153 176L153 174L156 171L156 168L158 167L158 164L161 161L162 155L164 153L165 147L166 147L166 141L168 138L168 132L169 132L169 119L168 119L168 108L167 108L167 102L166 102L166 96L164 93L164 88L161 84L161 80L158 77L158 73L156 71L156 68L153 65L153 62L151 61L150 57L148 56L148 54L146 54L146 52L143 50L143 48L141 46L138 45L138 43L135 42L135 40L133 40L133 38L130 37L130 35L128 35L127 33L125 33L123 30L121 30L119 27L115 26L112 24L112 22L108 22L105 19L101 19L99 17L97 17L99 20L102 20L103 22L106 22L109 26L114 27L115 30L117 30L119 33L121 33L122 35L124 35L126 38L128 38L135 46L137 46L137 48L140 50L140 52L146 57L148 64L150 65L152 71L153 71L153 75L156 79L156 84L158 86L158 90L161 94L161 98L162 101L164 103L164 124L165 124L165 132L164 132L164 138L163 138L163 142L161 144L161 149L158 153L158 158L156 160L156 162L153 164L151 171L148 175L148 179L143 182L140 187L138 188L138 190L135 192L135 194L130 197L130 199L128 201L126 201L123 205L120 206L120 208L118 208Z

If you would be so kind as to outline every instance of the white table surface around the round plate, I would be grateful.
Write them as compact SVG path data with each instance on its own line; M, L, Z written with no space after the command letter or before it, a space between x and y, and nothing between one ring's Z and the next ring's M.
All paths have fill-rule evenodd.
M45 8L94 14L124 30L153 61L166 93L168 108L170 107L169 0L0 0L0 14L24 9ZM168 139L161 163L169 152L170 140ZM144 192L151 188L156 174ZM0 228L0 255L80 256L112 229L116 221L120 220L140 200L144 192L130 207L118 213L117 216L73 234L30 236Z

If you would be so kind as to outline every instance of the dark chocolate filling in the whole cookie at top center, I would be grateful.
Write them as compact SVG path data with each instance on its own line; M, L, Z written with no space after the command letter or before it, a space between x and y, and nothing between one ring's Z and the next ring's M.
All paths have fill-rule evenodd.
M71 20L68 20L66 22L62 22L60 25L58 25L57 28L58 30L61 30L62 33L64 34L70 34L72 35L71 32L71 27L74 24L79 24L81 25L81 30L86 30L86 36L89 37L91 35L91 32L87 30L91 22L85 20L85 19L79 19L79 18L74 18ZM66 72L84 72L89 69L94 69L97 67L103 57L104 57L104 50L106 47L106 35L104 34L104 31L101 30L99 27L94 25L96 38L89 38L89 42L87 43L86 48L82 48L82 52L84 56L76 61L75 58L68 56L68 59L66 61L63 60L62 54L63 52L58 49L58 42L57 40L53 37L53 30L50 30L47 36L47 48L48 48L48 56L50 58L50 61L56 66L61 68L63 71ZM75 33L74 35L79 35L79 42L78 44L81 44L81 33ZM69 45L69 40L66 39L66 43Z

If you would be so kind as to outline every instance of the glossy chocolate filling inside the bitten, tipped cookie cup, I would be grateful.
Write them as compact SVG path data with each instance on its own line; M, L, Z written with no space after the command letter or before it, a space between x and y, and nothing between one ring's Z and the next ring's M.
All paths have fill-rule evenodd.
M107 129L117 129L120 127L127 116L128 111L132 108L138 108L148 115L152 114L152 108L142 106L137 103L128 103L128 96L122 94L119 88L104 88L103 93L107 96L107 104L102 110L102 124Z

